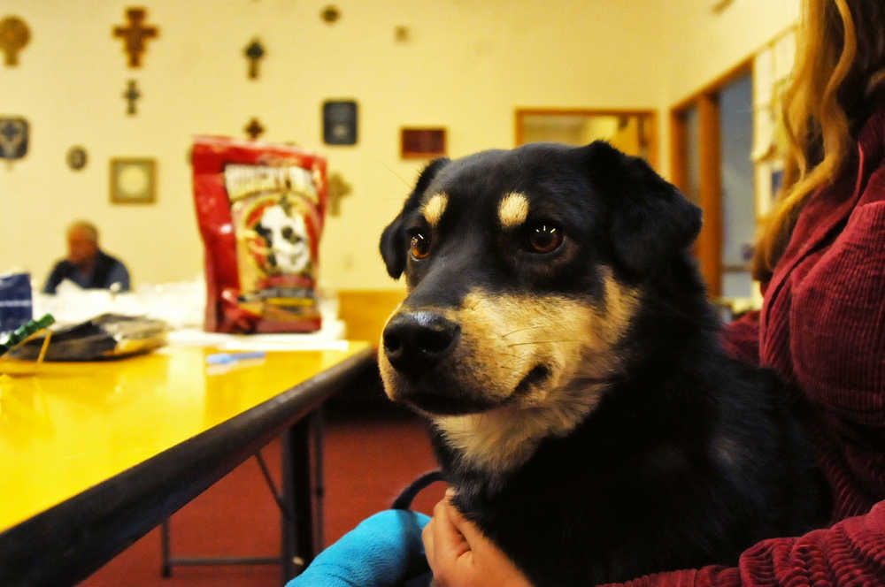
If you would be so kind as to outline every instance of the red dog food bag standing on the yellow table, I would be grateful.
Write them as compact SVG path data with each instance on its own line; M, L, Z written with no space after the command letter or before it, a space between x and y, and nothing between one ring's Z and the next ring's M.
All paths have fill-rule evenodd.
M319 330L326 160L284 145L198 136L193 167L205 246L205 330Z

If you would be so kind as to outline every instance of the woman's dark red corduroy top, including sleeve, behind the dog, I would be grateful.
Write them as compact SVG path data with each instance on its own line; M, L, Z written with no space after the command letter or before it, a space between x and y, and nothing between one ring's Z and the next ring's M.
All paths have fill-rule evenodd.
M764 292L762 310L723 339L811 401L834 525L761 542L736 568L632 585L885 585L885 109L866 121L846 172L804 207Z

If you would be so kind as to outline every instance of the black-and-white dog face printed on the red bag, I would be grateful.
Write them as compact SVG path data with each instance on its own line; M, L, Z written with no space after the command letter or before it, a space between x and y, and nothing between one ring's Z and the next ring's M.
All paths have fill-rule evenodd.
M255 232L267 243L267 264L271 271L300 273L311 259L307 227L300 214L289 216L280 204L268 206Z

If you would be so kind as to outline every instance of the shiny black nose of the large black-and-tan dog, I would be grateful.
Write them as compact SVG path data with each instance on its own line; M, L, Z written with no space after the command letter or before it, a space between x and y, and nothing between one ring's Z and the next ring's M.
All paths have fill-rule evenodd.
M429 311L403 312L384 328L384 354L394 368L418 376L455 347L461 327Z

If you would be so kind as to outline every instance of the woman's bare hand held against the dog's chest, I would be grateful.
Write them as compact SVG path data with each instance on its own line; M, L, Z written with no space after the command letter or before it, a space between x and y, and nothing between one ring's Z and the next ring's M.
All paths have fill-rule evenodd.
M427 562L440 587L532 587L528 579L473 522L451 505L454 492L434 507L421 537Z

